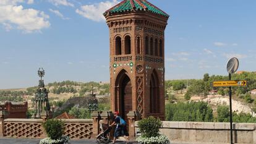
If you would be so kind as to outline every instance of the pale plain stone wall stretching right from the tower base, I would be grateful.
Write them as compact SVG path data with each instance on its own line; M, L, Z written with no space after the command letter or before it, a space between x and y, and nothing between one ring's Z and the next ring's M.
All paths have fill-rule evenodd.
M256 143L256 124L233 123L233 129L234 143ZM173 143L230 143L230 123L164 121L160 131Z

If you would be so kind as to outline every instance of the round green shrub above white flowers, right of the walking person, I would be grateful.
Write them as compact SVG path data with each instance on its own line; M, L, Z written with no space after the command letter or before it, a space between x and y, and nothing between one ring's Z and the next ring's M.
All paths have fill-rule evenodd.
M160 119L150 116L147 119L142 119L138 123L142 137L157 137L159 129L162 126Z

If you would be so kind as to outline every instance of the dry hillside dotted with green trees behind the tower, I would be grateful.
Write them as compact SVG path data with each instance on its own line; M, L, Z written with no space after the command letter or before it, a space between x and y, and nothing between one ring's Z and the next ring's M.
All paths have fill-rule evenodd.
M255 116L256 112L256 95L251 95L250 91L256 89L256 73L243 72L242 74L232 75L233 80L247 80L247 87L233 87L233 110L236 112L250 113ZM227 76L221 75L203 75L202 80L166 80L165 82L165 98L168 103L187 103L189 101L205 101L213 112L220 105L228 105L229 100L228 88L212 87L213 81L226 80ZM72 98L86 97L93 92L100 97L109 98L109 83L96 82L53 82L48 83L46 88L49 91L49 103L51 107L61 108L62 105ZM29 109L33 109L35 104L35 91L37 87L17 88L9 90L0 90L0 101L28 101ZM212 92L214 91L214 92ZM80 104L74 103L74 106ZM86 105L86 104L83 104ZM109 106L105 106L109 108ZM85 108L85 106L83 106Z

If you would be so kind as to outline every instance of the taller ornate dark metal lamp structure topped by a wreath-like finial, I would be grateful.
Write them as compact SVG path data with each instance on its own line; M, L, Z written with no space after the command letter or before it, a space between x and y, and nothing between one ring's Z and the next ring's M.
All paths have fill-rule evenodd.
M38 76L40 77L38 89L35 93L35 114L34 118L41 118L41 113L43 111L50 111L49 101L48 101L48 91L45 88L44 80L42 79L45 76L45 70L39 68Z

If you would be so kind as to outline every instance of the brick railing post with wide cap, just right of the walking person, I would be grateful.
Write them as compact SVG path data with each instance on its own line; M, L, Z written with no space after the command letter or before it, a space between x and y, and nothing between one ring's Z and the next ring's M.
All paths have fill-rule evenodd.
M138 111L129 111L127 117L129 121L129 138L133 140L135 138L135 121L140 120L140 113Z

